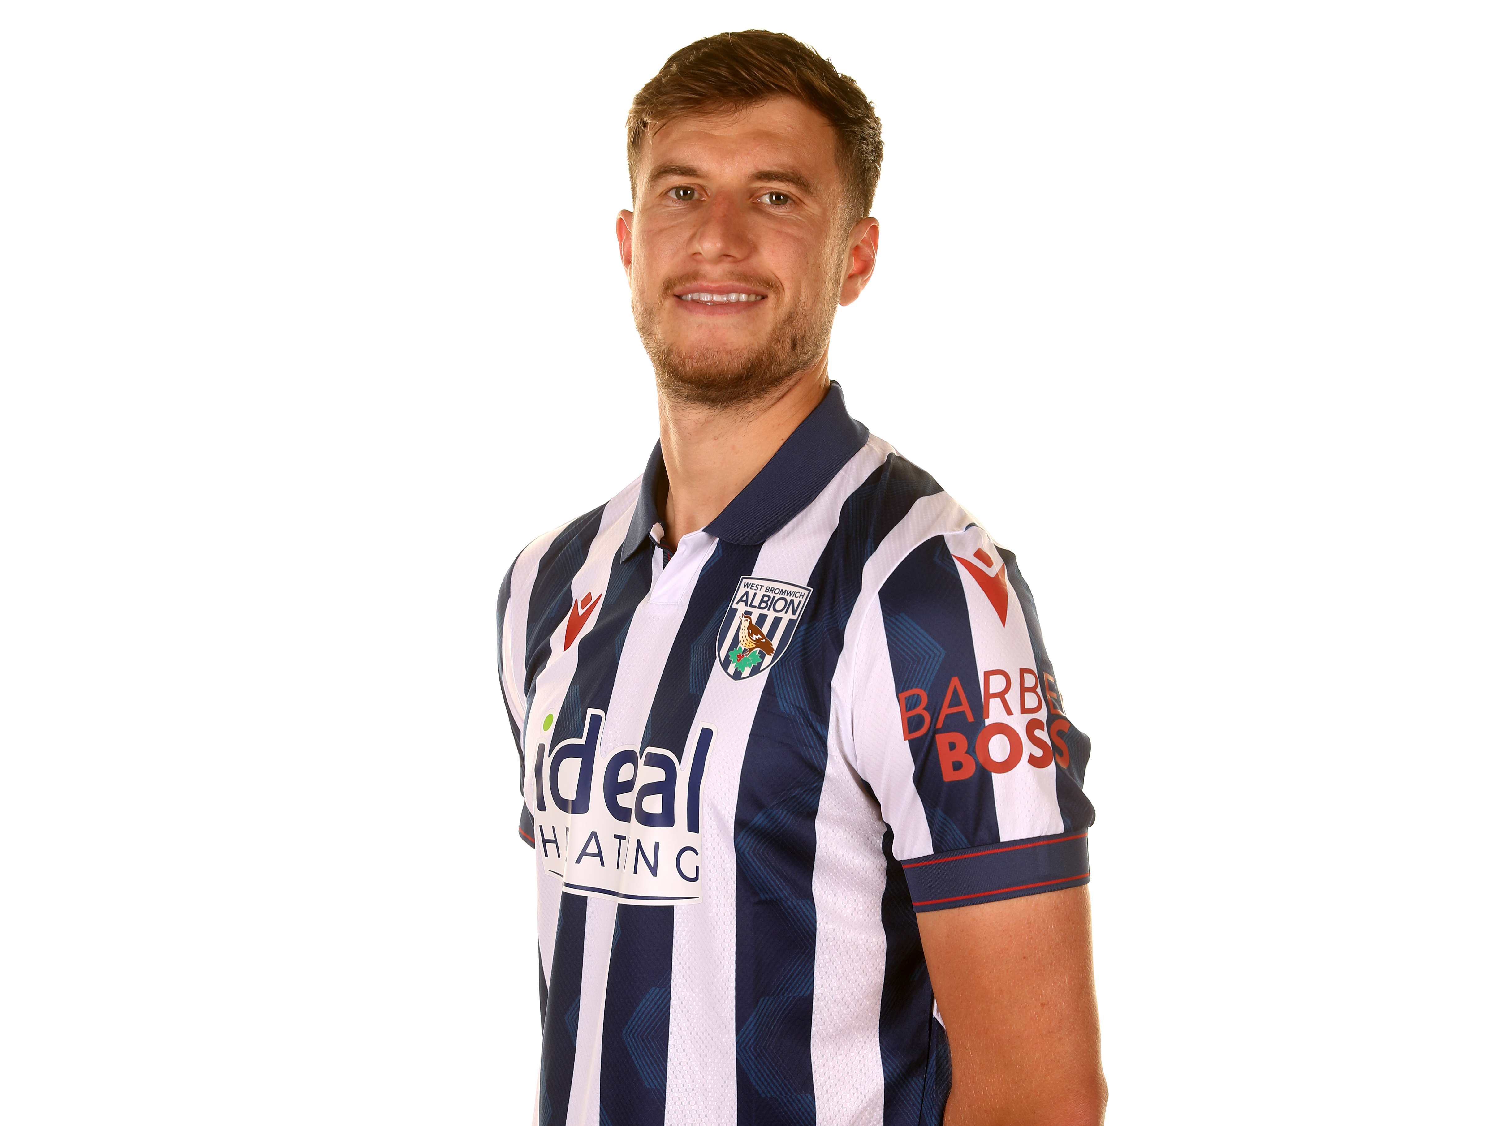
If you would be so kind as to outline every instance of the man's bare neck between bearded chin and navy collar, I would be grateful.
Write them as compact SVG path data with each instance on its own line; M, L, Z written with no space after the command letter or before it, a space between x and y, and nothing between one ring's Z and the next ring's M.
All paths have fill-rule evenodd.
M724 512L829 390L828 350L772 395L740 407L670 402L658 393L667 545Z

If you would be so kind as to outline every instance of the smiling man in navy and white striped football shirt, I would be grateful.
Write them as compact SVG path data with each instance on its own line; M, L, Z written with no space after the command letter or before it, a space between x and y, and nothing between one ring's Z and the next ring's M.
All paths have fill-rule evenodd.
M880 161L769 32L632 104L661 443L497 610L544 1124L1101 1120L1089 740L1012 555L829 380Z

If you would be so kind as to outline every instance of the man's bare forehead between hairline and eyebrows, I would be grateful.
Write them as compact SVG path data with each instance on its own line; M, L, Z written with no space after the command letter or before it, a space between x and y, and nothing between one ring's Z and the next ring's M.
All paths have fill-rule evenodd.
M835 185L838 137L829 120L796 98L772 98L733 110L674 117L641 141L638 174L683 165L737 177L763 168L790 168L816 185Z

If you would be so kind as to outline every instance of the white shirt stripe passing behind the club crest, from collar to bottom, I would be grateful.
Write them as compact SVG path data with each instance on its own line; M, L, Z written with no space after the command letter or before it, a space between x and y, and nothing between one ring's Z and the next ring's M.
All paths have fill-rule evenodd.
M840 525L846 498L882 464L888 449L873 441L852 456L808 507L763 545L753 574L807 586ZM673 908L664 1126L734 1121L736 1115L734 821L746 737L766 685L766 676L731 680L722 670L710 670L691 727L740 734L715 743L704 772L703 898Z

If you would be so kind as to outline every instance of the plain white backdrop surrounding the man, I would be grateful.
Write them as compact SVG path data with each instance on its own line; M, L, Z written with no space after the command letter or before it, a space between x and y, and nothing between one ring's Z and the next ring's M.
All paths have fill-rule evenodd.
M1110 1120L1496 1120L1487 8L8 6L0 1118L527 1120L496 587L655 437L631 95L771 26L1095 740Z

